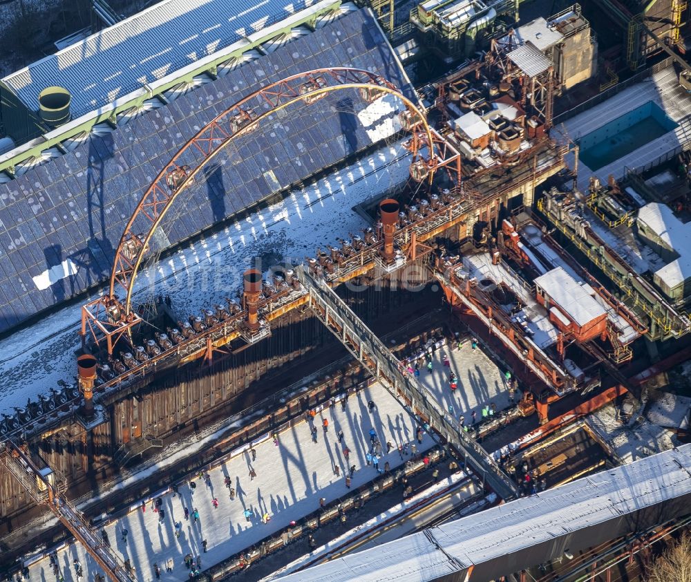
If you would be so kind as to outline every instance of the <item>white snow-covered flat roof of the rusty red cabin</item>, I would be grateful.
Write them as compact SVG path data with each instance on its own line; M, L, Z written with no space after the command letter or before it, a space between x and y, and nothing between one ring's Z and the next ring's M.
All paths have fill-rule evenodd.
M556 267L536 277L535 284L578 326L585 326L607 314L603 306L563 267Z

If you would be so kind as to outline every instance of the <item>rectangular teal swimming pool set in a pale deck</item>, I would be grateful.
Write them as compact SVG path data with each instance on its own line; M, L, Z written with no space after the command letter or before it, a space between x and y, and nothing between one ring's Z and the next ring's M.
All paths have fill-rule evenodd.
M658 104L649 101L583 135L578 140L578 159L591 170L598 170L678 125Z

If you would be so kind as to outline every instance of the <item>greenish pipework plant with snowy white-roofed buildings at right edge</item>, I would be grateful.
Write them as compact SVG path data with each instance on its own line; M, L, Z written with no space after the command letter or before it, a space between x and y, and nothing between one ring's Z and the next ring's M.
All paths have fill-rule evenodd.
M683 245L671 252L669 242L684 231L681 220L664 205L642 204L645 201L635 191L631 196L614 182L605 187L594 180L587 204L576 202L574 196L580 198L552 190L538 207L614 283L623 301L646 322L649 337L687 334ZM650 280L642 276L646 273Z

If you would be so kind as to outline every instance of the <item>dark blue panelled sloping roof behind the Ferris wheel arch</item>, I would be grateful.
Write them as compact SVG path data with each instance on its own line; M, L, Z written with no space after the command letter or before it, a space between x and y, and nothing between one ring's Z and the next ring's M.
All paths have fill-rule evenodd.
M416 99L374 17L358 10L0 184L0 332L108 279L138 200L220 111L263 84L336 66L383 75ZM344 105L348 99L354 106ZM157 249L368 147L372 141L354 115L363 106L355 91L327 95L314 106L277 113L264 131L236 138L167 215ZM195 148L188 155L200 156ZM147 227L136 222L134 231Z

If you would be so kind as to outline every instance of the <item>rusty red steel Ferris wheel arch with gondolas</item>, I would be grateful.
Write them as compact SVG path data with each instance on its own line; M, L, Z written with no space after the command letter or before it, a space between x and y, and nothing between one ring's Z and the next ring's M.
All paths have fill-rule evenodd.
M397 97L410 113L408 129L413 135L410 140L410 151L413 153L412 163L419 161L422 157L420 150L426 146L429 150L429 158L424 163L427 171L430 174L433 173L435 169L434 141L424 113L381 75L358 68L320 68L285 77L264 86L217 115L184 144L184 147L158 173L138 203L117 245L111 272L109 297L117 297L118 291L124 292L125 295L123 321L131 312L134 281L148 250L151 236L178 195L191 184L207 162L222 151L231 140L253 131L259 122L279 109L297 102L309 105L325 96L326 93L344 89L359 90L363 97L369 97L370 100L375 100L384 94ZM420 129L416 131L415 128L418 127ZM190 151L195 155L187 156ZM199 154L201 154L200 159L198 159ZM190 158L190 160L185 160L189 163L180 165L178 162L181 158ZM149 229L143 235L133 232L133 225L138 217L143 217L149 222Z

